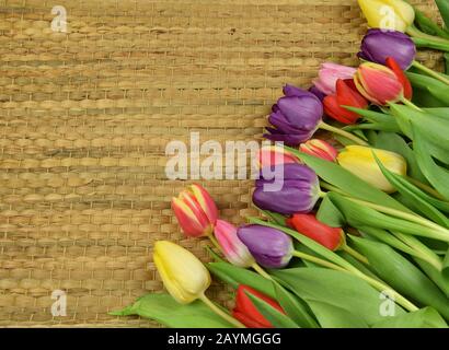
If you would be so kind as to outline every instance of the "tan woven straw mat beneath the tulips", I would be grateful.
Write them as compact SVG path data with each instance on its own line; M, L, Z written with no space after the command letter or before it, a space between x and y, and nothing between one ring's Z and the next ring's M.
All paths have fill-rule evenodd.
M162 289L154 240L206 259L172 217L189 182L166 179L166 143L261 139L281 85L356 65L365 31L355 0L0 0L0 326L154 326L107 312ZM225 219L255 213L252 182L203 185Z

